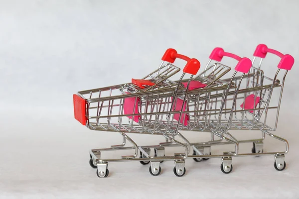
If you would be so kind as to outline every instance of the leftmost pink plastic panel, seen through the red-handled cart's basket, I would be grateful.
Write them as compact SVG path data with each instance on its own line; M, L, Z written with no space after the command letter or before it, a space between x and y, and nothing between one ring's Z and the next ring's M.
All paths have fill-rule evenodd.
M126 92L127 93L127 92ZM127 93L129 94L129 93ZM125 98L124 100L124 114L138 114L139 113L139 104L140 99L137 97ZM130 115L130 119L133 119L135 122L139 122L141 115Z

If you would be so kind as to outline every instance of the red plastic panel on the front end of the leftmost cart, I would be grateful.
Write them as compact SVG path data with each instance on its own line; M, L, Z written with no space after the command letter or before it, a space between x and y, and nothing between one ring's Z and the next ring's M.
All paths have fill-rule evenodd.
M74 102L75 119L77 119L81 124L85 126L86 125L86 114L85 114L86 101L80 96L74 94L73 102Z

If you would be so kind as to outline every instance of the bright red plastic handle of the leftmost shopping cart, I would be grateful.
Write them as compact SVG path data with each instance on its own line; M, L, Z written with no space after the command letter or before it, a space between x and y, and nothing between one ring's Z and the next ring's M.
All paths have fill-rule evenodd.
M165 53L162 57L162 60L169 62L169 63L173 63L176 58L187 61L187 64L185 65L185 67L183 69L184 73L196 75L196 73L198 72L198 70L200 68L200 62L195 58L189 58L185 55L178 54L176 52L176 50L174 50L172 48L168 48L165 51Z

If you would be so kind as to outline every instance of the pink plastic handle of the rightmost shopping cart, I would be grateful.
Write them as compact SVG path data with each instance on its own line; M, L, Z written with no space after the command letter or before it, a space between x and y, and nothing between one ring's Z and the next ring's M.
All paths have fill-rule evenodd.
M290 71L294 65L294 57L292 57L289 54L284 55L283 53L274 50L274 49L270 49L268 48L265 44L259 44L256 48L256 50L254 51L254 56L255 57L260 57L260 58L265 58L267 53L272 53L275 54L277 56L279 56L281 58L281 61L278 64L278 68L280 69L285 69Z

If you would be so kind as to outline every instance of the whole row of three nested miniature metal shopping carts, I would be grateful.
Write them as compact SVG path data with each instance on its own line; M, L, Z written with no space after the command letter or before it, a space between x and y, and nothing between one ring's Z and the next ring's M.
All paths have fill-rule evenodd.
M174 174L183 176L186 158L200 161L216 157L222 159L222 172L230 173L233 156L250 156L258 152L259 155L275 155L276 169L283 170L286 165L284 154L288 152L288 142L269 131L275 130L277 126L287 72L282 84L277 80L277 75L280 69L290 70L294 59L290 55L282 55L268 49L265 45L258 46L255 56L264 58L267 52L276 53L282 58L274 79L264 76L260 69L262 62L258 68L251 67L252 63L248 58L224 52L221 48L213 50L205 70L193 78L200 67L198 60L177 54L174 49L168 49L162 57L163 61L159 68L143 79L132 79L132 83L124 85L78 92L74 95L75 118L78 121L92 130L119 132L123 136L121 145L90 151L90 165L97 168L98 177L107 177L108 162L118 161L150 163L149 172L156 176L161 172L160 163L167 160L174 161ZM238 60L235 72L229 79L222 79L231 70L230 67L220 63L223 56ZM176 58L187 61L187 64L180 80L171 81L169 78L179 72L179 68L172 64ZM191 76L183 80L186 73ZM238 73L241 73L241 76L237 77ZM272 84L265 85L265 80L271 81ZM270 106L271 96L276 88L281 88L279 104ZM237 108L239 101L242 101L242 104ZM270 109L277 110L274 128L266 123ZM263 138L268 134L282 140L286 143L287 149L285 152L263 153L260 150L263 138L240 142L228 132L231 129L262 130ZM190 143L179 132L181 130L195 133L210 132L212 140ZM138 146L127 133L161 135L167 142L154 146ZM214 140L214 136L220 139ZM182 141L178 141L177 138ZM126 140L131 142L133 147L125 147ZM249 141L254 142L256 151L239 154L239 143ZM234 144L235 151L211 155L211 146L218 144ZM175 146L183 147L184 152L165 156L164 148ZM193 155L189 155L191 146ZM135 154L122 156L120 159L101 159L103 151L128 149L135 150ZM153 156L150 156L150 149L154 149Z

